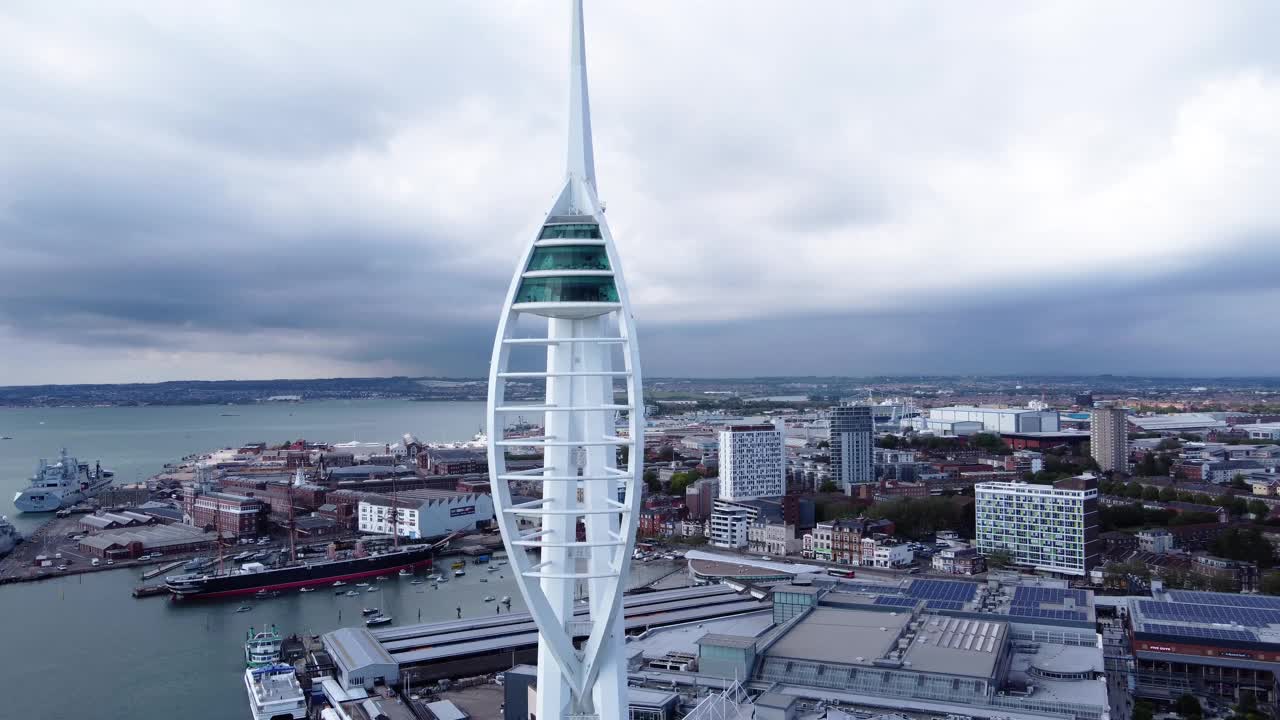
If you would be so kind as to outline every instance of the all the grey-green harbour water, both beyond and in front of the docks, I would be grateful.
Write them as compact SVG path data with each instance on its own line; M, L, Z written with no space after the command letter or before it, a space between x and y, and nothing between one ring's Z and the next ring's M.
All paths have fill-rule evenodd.
M0 409L0 514L23 532L40 520L18 515L13 495L40 457L59 448L101 461L116 482L150 478L193 452L262 441L468 441L484 421L483 402L352 400L301 404L174 407ZM287 592L269 600L174 603L136 600L141 570L119 569L0 585L0 720L45 717L248 717L244 634L275 625L282 633L325 633L358 625L362 607L379 607L396 625L497 614L524 603L511 573L468 570L433 589L392 577L360 597L333 591ZM635 569L643 584L667 564ZM500 575L500 577L499 577ZM346 589L346 588L344 588ZM494 597L494 601L485 601ZM237 612L242 605L252 609ZM506 609L503 607L503 611Z

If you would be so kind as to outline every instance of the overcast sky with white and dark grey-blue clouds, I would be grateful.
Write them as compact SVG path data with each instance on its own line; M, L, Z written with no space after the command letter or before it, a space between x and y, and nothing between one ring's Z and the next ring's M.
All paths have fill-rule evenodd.
M589 0L653 375L1280 374L1280 4ZM5 3L0 384L484 375L568 3Z

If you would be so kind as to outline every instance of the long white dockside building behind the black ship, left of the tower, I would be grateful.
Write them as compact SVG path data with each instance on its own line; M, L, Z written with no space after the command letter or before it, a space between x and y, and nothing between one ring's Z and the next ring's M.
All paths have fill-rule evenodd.
M413 489L397 493L399 518L388 496L370 496L360 501L356 528L362 533L403 538L436 538L457 530L485 528L494 520L493 498L484 493L440 489ZM394 530L393 530L394 527Z

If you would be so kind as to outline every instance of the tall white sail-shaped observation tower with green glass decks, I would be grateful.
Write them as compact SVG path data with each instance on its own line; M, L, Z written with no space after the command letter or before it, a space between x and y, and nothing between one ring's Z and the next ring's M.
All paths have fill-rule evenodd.
M489 471L507 555L538 623L539 720L627 716L622 593L644 455L640 355L596 197L582 3L572 5L568 172L516 266L489 366ZM544 382L545 404L508 402L509 382ZM520 415L541 415L543 434L508 437ZM540 468L507 470L508 452L539 451ZM540 497L529 491L538 500L513 503L513 483ZM585 607L573 602L580 583Z

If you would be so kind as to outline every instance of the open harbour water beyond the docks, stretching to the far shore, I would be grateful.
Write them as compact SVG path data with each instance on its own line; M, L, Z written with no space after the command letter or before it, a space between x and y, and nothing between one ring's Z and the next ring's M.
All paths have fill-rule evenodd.
M397 442L467 441L484 424L484 402L334 400L164 407L0 409L0 515L23 533L42 516L19 515L13 496L27 487L40 457L65 447L81 461L101 460L119 484L146 480L192 452L244 442L287 439Z

